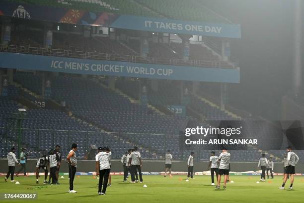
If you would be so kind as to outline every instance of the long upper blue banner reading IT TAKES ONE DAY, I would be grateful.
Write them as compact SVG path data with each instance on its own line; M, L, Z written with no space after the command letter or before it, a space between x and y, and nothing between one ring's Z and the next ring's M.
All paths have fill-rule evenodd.
M94 13L63 7L15 3L6 0L0 1L0 13L2 15L23 19L105 26L152 32L241 38L240 25L238 24L182 21L167 18L119 15L108 12Z

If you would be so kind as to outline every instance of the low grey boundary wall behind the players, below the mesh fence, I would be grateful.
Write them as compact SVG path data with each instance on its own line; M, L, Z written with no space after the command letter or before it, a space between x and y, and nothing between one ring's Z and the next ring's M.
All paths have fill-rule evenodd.
M111 162L112 172L122 172L123 166L120 160L112 160ZM194 172L207 171L208 162L194 162ZM36 160L28 160L26 165L27 172L34 172L36 167ZM18 166L16 170L18 170ZM8 170L7 160L0 160L0 173L6 173ZM257 168L257 163L255 162L232 162L231 163L231 171L234 172L244 172L244 171L256 171L259 170ZM78 172L91 172L95 171L95 161L78 161L77 163L77 171ZM144 172L161 172L164 171L164 161L146 161L144 160L143 170ZM184 161L176 161L172 163L172 171L188 171L187 162ZM43 170L41 170L43 172ZM60 168L60 172L69 172L68 164L62 163ZM282 173L283 166L281 163L275 163L274 165L275 173ZM304 173L304 164L298 164L296 166L296 173Z

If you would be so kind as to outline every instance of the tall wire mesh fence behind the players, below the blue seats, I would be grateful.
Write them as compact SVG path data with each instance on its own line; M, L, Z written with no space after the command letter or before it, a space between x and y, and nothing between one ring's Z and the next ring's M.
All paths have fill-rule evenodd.
M21 128L20 130L18 131L14 127L0 127L0 158L6 158L11 146L18 148L18 132L21 132L21 147L27 149L29 159L40 157L43 152L47 153L49 149L54 149L56 145L61 146L61 152L63 157L65 157L69 153L72 143L77 143L78 145L78 159L88 158L91 145L96 147L108 146L112 150L113 159L120 159L125 151L134 146L139 147L143 159L152 160L163 160L168 149L171 150L174 160L187 160L190 152L194 151L196 161L207 161L210 157L210 151L217 151L216 148L208 148L206 146L195 146L191 149L187 147L180 148L179 135L31 128ZM242 151L231 150L230 153L232 161L257 161L257 158L252 158L252 153L260 155L257 150L253 150L250 147ZM237 158L240 155L241 158Z

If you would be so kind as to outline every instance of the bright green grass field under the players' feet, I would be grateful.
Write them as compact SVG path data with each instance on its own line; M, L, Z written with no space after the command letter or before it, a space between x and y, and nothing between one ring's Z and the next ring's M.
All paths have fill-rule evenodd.
M185 181L185 176L143 176L144 184L122 182L122 176L112 176L112 187L108 187L106 196L97 195L97 179L93 176L75 178L76 194L67 193L69 190L68 177L60 179L61 185L43 185L35 183L35 177L18 177L20 184L4 182L2 177L0 193L37 193L38 199L28 203L92 203L96 201L109 203L138 202L138 203L303 203L304 177L295 178L294 190L279 190L282 176L257 184L258 176L230 176L234 183L228 183L227 190L215 190L211 186L209 176L196 176L194 180ZM130 179L130 178L129 178ZM181 202L180 202L181 201ZM8 200L0 202L22 202Z

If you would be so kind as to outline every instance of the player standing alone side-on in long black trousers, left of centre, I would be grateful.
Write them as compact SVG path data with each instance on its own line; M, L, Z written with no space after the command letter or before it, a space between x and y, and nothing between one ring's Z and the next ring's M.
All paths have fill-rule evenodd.
M74 190L74 178L76 174L76 167L77 167L77 158L76 158L76 151L77 151L77 144L72 144L72 149L69 152L67 157L67 162L69 164L69 178L70 178L70 190L69 193L77 193Z

